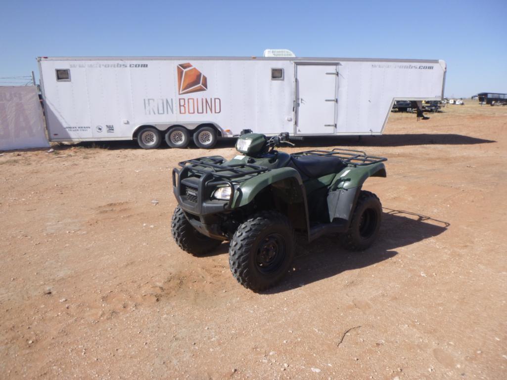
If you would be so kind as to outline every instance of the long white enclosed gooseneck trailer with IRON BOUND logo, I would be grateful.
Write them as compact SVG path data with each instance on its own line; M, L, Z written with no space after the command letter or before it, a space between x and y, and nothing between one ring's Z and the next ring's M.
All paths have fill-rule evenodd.
M51 141L380 135L395 100L442 99L442 60L39 57Z

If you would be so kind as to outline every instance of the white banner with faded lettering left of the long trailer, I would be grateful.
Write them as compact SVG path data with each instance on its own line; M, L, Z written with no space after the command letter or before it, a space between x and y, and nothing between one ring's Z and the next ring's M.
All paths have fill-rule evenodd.
M0 86L0 149L48 146L37 87Z

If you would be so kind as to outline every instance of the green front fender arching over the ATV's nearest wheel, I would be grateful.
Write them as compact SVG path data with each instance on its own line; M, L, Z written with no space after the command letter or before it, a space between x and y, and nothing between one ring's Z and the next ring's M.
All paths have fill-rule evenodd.
M293 188L294 198L301 202L301 197L304 197L304 191L303 181L298 171L293 168L279 168L259 174L241 183L234 193L234 201L231 208L234 209L249 204L267 186L287 182L292 182L291 187L295 187Z

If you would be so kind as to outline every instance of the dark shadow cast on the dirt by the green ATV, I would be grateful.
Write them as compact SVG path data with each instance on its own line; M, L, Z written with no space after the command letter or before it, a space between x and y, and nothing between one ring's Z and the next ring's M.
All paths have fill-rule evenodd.
M312 243L297 241L297 256L291 273L265 294L287 290L336 276L342 272L369 267L398 254L397 248L438 236L449 223L410 211L384 208L380 236L363 252L349 252L337 246L336 237L323 237Z

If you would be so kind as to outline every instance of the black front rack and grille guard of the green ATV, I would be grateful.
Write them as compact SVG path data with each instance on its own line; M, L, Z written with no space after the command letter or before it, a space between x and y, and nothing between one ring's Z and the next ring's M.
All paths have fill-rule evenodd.
M270 170L260 165L224 165L224 162L223 157L210 156L178 163L181 169L172 169L172 187L176 199L182 201L187 210L197 215L221 212L232 206L236 192L235 179L255 176ZM224 203L212 199L213 192L219 186L230 187L229 201Z

